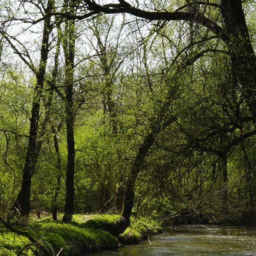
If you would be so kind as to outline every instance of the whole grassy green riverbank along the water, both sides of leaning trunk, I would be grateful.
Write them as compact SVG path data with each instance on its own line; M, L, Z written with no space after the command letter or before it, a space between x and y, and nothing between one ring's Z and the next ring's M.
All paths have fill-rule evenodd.
M137 244L161 230L160 223L151 218L132 218L131 226L115 237L106 230L119 218L119 215L74 215L70 224L44 219L31 220L28 227L15 227L38 243L0 227L0 256L36 256L39 243L49 251L49 255L76 256L88 251L115 249L119 244Z

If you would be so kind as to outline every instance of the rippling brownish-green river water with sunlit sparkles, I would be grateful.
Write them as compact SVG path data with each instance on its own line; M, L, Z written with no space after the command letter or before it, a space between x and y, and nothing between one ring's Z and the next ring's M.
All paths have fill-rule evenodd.
M150 242L149 242L150 241ZM138 245L88 256L256 256L256 228L186 225Z

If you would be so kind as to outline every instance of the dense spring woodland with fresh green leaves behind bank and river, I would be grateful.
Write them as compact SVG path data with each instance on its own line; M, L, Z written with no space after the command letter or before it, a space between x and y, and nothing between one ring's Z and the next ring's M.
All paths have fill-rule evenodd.
M256 224L255 8L2 1L0 215Z

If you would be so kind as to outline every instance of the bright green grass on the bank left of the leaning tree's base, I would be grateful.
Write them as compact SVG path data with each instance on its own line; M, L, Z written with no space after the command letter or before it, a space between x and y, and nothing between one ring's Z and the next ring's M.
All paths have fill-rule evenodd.
M77 219L75 215L75 220ZM93 220L72 222L63 224L61 221L45 220L43 222L31 221L28 227L17 227L19 230L26 231L35 239L40 240L52 255L57 255L61 250L61 255L81 255L81 253L93 250L108 250L118 246L116 237L110 233L100 230L102 223L112 221L111 215L93 216ZM115 217L116 218L116 217ZM98 222L97 222L98 220ZM87 223L88 222L88 223ZM30 241L14 233L0 229L0 256L12 256L13 254ZM22 256L34 256L37 254L35 246L24 250Z

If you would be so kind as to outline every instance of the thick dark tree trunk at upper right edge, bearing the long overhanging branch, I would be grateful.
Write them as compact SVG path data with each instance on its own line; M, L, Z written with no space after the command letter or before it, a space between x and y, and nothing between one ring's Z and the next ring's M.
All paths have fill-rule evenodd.
M221 0L227 47L242 95L256 121L256 56L250 41L241 0Z

